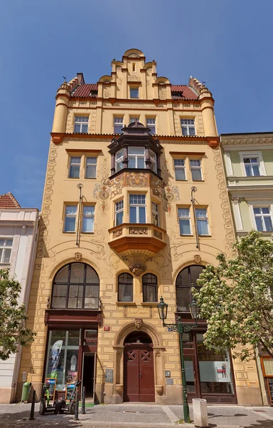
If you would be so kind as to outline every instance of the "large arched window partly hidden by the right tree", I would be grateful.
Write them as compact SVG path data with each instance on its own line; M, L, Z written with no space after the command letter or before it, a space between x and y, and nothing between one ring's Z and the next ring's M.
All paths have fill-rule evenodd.
M193 265L187 266L178 273L176 278L176 300L178 312L189 312L189 304L191 302L191 287L196 287L196 281L203 266Z

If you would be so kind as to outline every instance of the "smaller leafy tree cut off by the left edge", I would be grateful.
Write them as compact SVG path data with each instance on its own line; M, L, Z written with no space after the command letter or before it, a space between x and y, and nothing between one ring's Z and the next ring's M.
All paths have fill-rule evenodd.
M0 360L7 360L17 352L18 345L29 345L36 333L26 328L26 308L18 305L21 285L0 269Z

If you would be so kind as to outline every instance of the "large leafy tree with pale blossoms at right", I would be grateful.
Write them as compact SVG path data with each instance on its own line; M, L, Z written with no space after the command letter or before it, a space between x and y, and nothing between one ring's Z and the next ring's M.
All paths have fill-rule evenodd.
M273 243L252 230L234 244L237 257L217 256L200 274L193 296L207 320L205 346L236 348L245 360L259 347L273 357ZM248 346L247 346L248 345ZM252 345L250 347L249 345Z

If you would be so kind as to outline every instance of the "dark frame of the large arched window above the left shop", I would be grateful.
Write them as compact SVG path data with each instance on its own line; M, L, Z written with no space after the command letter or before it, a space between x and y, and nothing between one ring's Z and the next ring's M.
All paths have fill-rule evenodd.
M83 276L83 282L72 282L71 281L71 266L72 265L84 265L84 276ZM68 266L68 281L67 282L56 282L55 279L58 275L58 273L64 269L66 266ZM63 267L60 267L60 269L58 270L58 272L55 274L54 279L53 279L53 286L52 286L52 293L51 293L51 301L50 301L50 308L53 310L99 310L100 309L100 277L99 275L97 275L97 280L98 282L86 282L86 276L87 276L87 267L90 267L95 274L97 275L96 270L94 269L94 267L87 265L87 263L80 263L80 262L73 262L73 263L68 263L67 265L64 265ZM65 297L65 307L53 307L53 298L54 297L58 297L58 295L54 296L54 291L55 291L55 285L66 285L66 295L63 296ZM70 286L75 286L75 285L80 285L82 286L82 306L81 307L69 307L69 298L70 298ZM97 287L98 288L98 292L96 293L98 295L98 297L89 297L89 298L93 298L93 299L97 299L97 305L96 307L85 307L85 287L86 286L92 286L92 287ZM77 297L78 298L78 297ZM88 298L88 297L87 297Z

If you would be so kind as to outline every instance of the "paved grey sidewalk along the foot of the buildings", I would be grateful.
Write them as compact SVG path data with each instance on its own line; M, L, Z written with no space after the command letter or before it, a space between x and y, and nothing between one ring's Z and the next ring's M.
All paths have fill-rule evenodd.
M156 404L115 404L87 407L75 421L70 414L38 414L29 421L30 404L0 404L1 428L193 428L181 423L182 406ZM81 409L80 409L81 410ZM190 406L191 418L192 407ZM214 428L273 428L272 407L208 406L209 427Z

